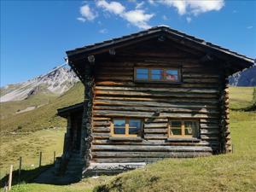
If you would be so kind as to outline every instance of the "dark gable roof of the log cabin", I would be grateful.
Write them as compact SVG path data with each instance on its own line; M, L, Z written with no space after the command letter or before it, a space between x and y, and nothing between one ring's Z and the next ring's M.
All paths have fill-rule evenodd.
M178 32L177 30L171 29L168 26L155 26L149 28L148 30L142 32L132 33L120 38L113 38L107 41L103 41L97 44L86 45L81 48L67 50L68 61L73 61L73 64L69 62L70 66L73 67L74 71L78 73L79 78L82 80L83 77L80 75L78 68L75 67L75 60L77 57L83 57L87 59L88 55L97 55L104 52L108 52L109 49L116 49L119 47L125 47L130 44L136 44L139 40L145 40L155 37L164 36L165 38L170 38L177 41L179 44L185 44L193 49L200 49L211 54L213 56L218 56L224 61L236 61L236 64L239 66L239 70L242 70L247 67L252 67L254 60L249 58L246 55L241 55L232 51L230 49L225 49L216 44L205 41L201 38L195 38L183 32ZM238 71L239 71L238 70Z

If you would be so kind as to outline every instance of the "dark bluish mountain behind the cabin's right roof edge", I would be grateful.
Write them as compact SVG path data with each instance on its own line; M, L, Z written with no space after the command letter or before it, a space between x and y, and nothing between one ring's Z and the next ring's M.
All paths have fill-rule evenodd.
M256 66L234 74L229 80L233 86L256 86Z

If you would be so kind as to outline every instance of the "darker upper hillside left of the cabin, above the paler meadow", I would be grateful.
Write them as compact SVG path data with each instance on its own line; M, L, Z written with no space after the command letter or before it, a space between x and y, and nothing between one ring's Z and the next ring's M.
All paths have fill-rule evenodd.
M84 85L79 82L73 88L67 90L65 94L49 100L49 103L41 108L36 108L25 113L16 113L9 118L2 119L1 135L12 131L38 131L65 126L64 119L55 115L56 109L82 102L83 98ZM12 102L9 104L11 106ZM4 113L2 108L1 111L1 113Z

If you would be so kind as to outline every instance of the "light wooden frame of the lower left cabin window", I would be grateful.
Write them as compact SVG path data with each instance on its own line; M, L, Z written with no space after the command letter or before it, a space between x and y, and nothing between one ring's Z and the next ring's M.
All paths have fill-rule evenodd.
M113 120L123 120L125 119L125 134L114 134L113 131ZM137 119L141 121L141 132L143 131L143 120L138 118L112 118L110 125L110 133L111 137L142 137L141 135L129 134L129 120Z

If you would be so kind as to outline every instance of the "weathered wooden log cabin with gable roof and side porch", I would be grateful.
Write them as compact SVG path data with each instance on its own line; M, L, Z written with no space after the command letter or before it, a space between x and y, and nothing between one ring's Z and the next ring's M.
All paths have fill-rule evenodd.
M67 172L230 152L227 79L253 59L156 26L69 50L67 60L85 87L84 102L58 109Z

